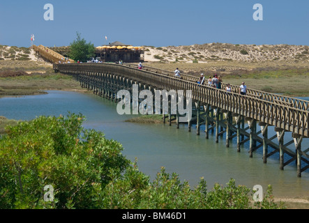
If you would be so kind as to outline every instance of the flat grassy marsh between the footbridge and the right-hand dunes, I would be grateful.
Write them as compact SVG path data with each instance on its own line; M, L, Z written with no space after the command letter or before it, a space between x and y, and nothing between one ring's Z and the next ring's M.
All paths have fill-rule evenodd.
M179 61L179 60L177 60ZM208 63L158 63L146 64L164 70L174 70L199 77L214 74L223 77L223 82L241 85L246 82L250 89L271 93L282 93L289 96L309 96L309 64L289 64L281 61L269 62L238 62L211 61Z

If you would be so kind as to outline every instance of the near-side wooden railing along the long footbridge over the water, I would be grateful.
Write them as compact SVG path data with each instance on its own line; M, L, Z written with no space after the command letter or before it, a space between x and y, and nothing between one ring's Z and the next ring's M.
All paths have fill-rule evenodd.
M309 136L308 117L309 112L304 109L298 109L288 105L282 105L279 102L272 102L257 98L251 95L240 95L239 93L227 93L223 89L214 89L209 86L201 86L195 82L169 77L160 73L139 70L128 66L119 66L116 64L56 64L55 68L60 72L92 72L92 73L112 73L134 79L137 82L149 84L157 89L184 90L192 91L193 100L199 100L206 104L225 109L228 112L234 112L248 118L254 118L257 121L274 125L289 132Z

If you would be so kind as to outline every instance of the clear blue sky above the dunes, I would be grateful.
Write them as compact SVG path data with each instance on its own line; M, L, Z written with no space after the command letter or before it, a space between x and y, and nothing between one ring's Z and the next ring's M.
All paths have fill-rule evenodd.
M44 20L44 5L54 20ZM253 5L263 20L253 20ZM70 45L76 32L95 46L204 43L309 45L308 0L0 1L0 45ZM107 41L105 40L107 36Z

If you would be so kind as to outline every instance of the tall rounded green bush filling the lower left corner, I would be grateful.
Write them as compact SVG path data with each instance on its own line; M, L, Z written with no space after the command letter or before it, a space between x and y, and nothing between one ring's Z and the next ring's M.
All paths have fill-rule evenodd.
M1 208L94 208L94 188L130 163L121 144L82 128L84 116L40 116L6 128L0 137ZM54 187L54 201L44 187ZM95 187L96 186L96 187Z

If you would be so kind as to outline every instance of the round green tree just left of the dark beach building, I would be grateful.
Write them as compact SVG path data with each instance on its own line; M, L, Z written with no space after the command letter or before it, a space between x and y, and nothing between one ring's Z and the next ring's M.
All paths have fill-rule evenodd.
M76 33L77 38L70 43L70 58L75 61L86 62L89 58L95 56L95 47L91 42L86 43L84 38L81 38L80 33Z

